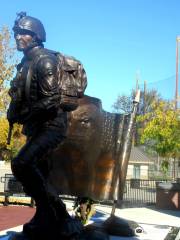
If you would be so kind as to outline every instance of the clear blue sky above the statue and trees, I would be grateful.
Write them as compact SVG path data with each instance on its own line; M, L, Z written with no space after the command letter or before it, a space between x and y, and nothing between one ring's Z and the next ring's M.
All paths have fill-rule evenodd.
M137 75L154 87L162 82L162 92L174 96L179 0L2 1L0 26L12 28L20 11L42 21L45 47L81 60L86 94L105 110L130 92Z

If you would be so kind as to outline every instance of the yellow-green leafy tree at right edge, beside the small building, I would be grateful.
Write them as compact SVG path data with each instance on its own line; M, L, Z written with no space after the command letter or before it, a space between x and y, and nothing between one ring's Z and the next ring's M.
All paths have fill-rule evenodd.
M166 101L154 102L152 111L138 117L144 123L141 143L164 158L162 169L167 171L170 158L180 157L180 110Z

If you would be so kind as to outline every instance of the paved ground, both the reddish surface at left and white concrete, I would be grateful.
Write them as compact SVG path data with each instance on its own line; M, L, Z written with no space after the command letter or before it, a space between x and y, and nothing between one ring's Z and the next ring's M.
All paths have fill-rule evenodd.
M72 202L66 202L67 208L71 209ZM111 207L96 207L100 217L107 216L111 212ZM21 231L22 224L27 222L34 214L35 209L23 206L0 206L0 239L7 239L7 230ZM180 227L180 211L157 210L155 208L124 208L117 209L116 215L127 220L133 220L144 226L148 235L142 235L138 238L121 238L113 237L111 239L148 239L163 240L169 231L163 226ZM158 228L157 228L158 226ZM161 227L160 227L161 226ZM16 227L12 229L13 227ZM150 235L151 234L151 235ZM164 235L163 235L164 234ZM3 236L5 236L3 238ZM147 238L148 237L148 238ZM177 238L179 240L180 238Z

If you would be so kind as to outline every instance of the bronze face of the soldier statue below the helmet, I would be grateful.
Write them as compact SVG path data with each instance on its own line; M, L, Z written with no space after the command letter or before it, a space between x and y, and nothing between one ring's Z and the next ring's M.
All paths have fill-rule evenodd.
M25 33L16 33L14 37L18 51L25 51L33 41L33 37Z

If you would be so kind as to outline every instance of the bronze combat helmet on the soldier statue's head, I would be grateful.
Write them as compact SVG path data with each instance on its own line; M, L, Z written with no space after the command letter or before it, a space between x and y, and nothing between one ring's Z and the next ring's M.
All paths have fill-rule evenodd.
M27 31L31 34L35 34L39 41L46 41L46 32L41 21L37 18L26 16L26 12L17 14L13 31L15 33Z

